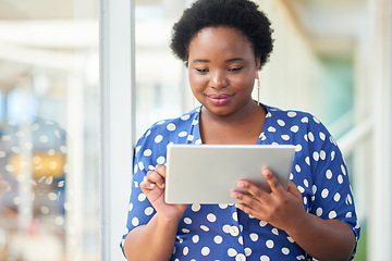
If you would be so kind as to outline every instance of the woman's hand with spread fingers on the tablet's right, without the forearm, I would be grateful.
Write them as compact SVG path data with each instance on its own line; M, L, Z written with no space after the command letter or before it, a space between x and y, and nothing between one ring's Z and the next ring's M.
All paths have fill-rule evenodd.
M262 175L271 191L240 179L237 187L245 191L233 190L231 195L242 201L235 204L236 208L283 231L290 231L306 220L303 197L294 183L290 182L285 190L269 169L264 169Z

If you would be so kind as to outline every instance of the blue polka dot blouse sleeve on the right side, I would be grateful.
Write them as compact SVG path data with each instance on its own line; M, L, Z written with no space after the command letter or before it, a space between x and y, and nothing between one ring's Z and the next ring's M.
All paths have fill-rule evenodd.
M360 227L343 156L333 137L317 119L309 128L311 149L307 161L313 175L309 211L323 220L335 219L346 223L358 241Z

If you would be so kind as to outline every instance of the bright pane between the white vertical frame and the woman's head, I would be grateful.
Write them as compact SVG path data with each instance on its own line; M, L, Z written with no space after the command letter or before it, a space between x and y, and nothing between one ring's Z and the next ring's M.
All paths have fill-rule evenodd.
M170 50L171 28L188 0L136 0L136 137L193 109L187 71Z

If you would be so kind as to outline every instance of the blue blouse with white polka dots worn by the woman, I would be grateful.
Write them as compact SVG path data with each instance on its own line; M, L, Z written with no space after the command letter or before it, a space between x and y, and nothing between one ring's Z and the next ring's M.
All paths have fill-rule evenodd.
M347 170L327 128L308 113L265 108L267 119L256 144L295 145L290 178L303 195L305 210L324 220L345 222L358 239L359 225ZM156 213L139 184L149 170L166 163L167 146L201 144L199 112L200 108L179 119L158 122L138 140L123 239L134 227L147 224ZM284 231L233 204L191 204L180 222L171 260L313 259Z

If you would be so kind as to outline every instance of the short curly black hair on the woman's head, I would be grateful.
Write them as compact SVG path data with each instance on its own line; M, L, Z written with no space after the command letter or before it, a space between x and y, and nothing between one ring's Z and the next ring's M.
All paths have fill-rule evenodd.
M237 29L252 44L260 67L273 48L271 23L250 0L198 0L186 9L173 26L170 48L187 65L189 44L206 27L226 26Z

